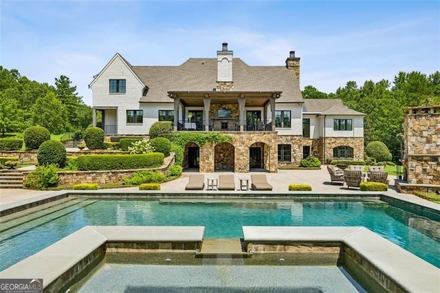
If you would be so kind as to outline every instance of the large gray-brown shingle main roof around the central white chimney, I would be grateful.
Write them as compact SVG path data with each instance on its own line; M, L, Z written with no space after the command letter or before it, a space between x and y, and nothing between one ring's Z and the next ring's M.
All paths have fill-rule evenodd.
M149 87L140 102L173 102L167 91L212 91L217 86L217 58L189 58L179 66L132 66ZM283 66L232 63L233 91L283 91L276 102L303 102L294 70Z

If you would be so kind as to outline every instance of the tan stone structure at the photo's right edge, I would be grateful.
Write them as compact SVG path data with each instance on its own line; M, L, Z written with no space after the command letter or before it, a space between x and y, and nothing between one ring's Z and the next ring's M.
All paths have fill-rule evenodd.
M440 106L408 108L404 131L404 179L440 185Z

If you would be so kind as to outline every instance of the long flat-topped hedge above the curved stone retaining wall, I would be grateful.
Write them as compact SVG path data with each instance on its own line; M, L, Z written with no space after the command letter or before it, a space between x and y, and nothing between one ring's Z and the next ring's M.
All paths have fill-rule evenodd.
M164 163L164 154L81 155L76 161L78 170L81 171L144 169L161 166Z

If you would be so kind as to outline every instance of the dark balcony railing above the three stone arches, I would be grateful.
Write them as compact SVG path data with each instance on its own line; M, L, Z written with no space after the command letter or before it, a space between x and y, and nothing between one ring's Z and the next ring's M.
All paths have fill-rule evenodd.
M208 124L209 131L240 131L240 126L243 125L243 131L272 131L272 122L268 121L264 124L263 121L239 121L238 119L216 119L210 121ZM178 121L178 131L205 131L205 122L186 122Z

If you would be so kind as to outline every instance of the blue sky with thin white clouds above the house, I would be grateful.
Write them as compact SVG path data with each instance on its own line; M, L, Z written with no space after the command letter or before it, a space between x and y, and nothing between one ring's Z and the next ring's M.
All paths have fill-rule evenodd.
M229 43L248 65L301 58L301 88L393 81L440 69L440 1L8 1L0 0L0 64L54 85L89 83L119 52L132 65L216 57Z

